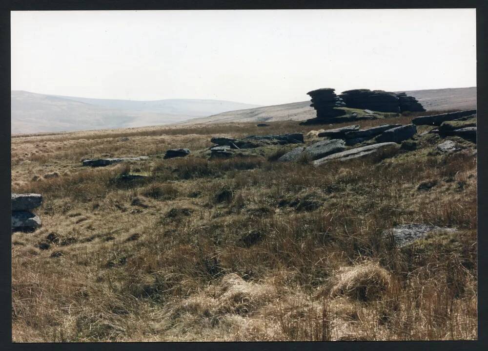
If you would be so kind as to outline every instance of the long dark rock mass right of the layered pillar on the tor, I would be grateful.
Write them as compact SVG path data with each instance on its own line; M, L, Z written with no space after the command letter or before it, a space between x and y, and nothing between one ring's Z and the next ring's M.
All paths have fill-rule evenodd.
M340 97L347 107L380 112L400 112L399 98L384 90L353 89L343 91Z

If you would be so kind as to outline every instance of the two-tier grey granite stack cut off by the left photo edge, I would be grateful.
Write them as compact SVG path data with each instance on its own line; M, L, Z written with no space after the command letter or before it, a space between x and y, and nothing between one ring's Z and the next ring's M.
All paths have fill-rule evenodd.
M31 212L41 204L41 194L12 193L12 230L30 231L41 226L39 216Z

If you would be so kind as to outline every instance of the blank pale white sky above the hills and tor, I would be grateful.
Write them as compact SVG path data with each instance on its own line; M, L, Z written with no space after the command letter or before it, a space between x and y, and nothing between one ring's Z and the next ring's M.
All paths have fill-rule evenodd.
M12 90L274 105L474 87L475 11L14 11Z

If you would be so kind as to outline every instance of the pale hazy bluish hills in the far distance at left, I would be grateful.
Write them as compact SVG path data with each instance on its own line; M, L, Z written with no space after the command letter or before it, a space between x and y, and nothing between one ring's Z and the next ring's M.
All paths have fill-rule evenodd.
M11 92L11 132L62 132L172 124L259 105L233 101L169 99L132 101Z

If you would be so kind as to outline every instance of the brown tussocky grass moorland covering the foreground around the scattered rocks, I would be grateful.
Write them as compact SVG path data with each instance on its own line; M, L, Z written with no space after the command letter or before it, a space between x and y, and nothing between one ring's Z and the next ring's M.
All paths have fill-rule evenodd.
M415 150L321 167L276 162L293 145L207 157L211 136L342 125L13 137L12 191L44 197L42 227L12 235L13 341L476 339L475 144L440 154L419 127ZM398 247L382 232L403 223L458 231Z

